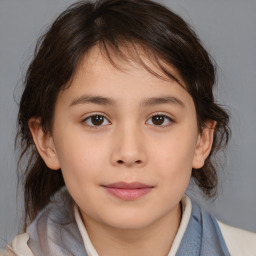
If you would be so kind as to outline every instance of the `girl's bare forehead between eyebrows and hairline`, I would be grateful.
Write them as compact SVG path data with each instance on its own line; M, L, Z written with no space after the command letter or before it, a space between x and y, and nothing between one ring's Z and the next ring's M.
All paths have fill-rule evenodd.
M124 54L128 54L125 52ZM191 97L184 89L181 77L171 66L165 68L180 81L168 77L154 58L145 55L144 51L137 51L139 57L107 55L99 47L94 47L81 59L70 86L61 94L78 98L83 94L111 96L116 101L124 102L130 99L155 97L176 97L180 101L189 101Z

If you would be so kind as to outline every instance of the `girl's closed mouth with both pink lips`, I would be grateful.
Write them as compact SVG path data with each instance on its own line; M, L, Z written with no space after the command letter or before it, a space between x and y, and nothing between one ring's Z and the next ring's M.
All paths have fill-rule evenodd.
M130 201L136 200L148 194L154 186L146 185L140 182L117 182L102 186L108 193L119 199Z

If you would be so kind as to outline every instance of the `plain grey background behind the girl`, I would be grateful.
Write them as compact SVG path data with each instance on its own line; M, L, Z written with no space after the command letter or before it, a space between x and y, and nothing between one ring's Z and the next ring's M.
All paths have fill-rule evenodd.
M0 1L0 247L21 228L14 150L17 100L35 42L71 0ZM205 202L219 219L256 232L256 1L158 1L196 30L218 64L218 101L232 114L233 137L219 197ZM190 191L199 197L196 189ZM200 198L200 197L199 197ZM203 202L204 203L204 202Z

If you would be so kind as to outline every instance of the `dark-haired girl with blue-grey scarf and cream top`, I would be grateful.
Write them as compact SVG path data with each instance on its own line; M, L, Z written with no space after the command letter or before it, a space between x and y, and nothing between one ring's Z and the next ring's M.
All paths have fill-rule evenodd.
M185 195L216 193L228 143L214 66L149 0L81 1L40 39L19 110L24 233L10 255L256 255L256 235Z

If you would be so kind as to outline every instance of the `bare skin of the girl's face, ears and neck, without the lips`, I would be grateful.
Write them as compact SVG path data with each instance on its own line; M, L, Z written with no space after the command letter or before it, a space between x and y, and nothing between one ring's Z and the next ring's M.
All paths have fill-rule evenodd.
M113 67L94 48L79 64L71 85L60 92L52 132L44 133L38 118L29 126L47 166L61 168L100 256L167 255L192 167L203 166L213 129L199 134L193 99L177 82L158 78L136 63L120 65L124 69ZM88 103L85 95L112 98L114 104ZM141 104L167 96L176 101ZM93 126L93 114L104 116L104 122ZM161 115L163 123L156 125L153 114ZM153 189L136 200L122 200L102 187L120 181Z

